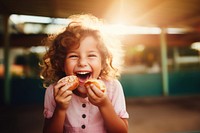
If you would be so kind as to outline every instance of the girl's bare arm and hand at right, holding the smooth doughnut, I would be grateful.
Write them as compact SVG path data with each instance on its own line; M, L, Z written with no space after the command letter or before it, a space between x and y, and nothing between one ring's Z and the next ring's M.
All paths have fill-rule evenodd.
M89 100L92 104L98 106L107 131L109 133L127 133L128 121L116 114L109 98L94 85L87 88Z

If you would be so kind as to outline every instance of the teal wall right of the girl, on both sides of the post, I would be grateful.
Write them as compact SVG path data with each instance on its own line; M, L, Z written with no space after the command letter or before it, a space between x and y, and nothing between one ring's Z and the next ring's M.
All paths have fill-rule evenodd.
M126 97L162 96L162 75L123 74L120 81ZM169 73L169 96L200 94L200 71Z

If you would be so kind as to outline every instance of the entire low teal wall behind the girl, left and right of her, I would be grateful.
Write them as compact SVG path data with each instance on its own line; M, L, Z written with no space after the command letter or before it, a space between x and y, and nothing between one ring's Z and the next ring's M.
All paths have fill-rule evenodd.
M120 82L126 97L162 96L162 76L156 74L123 74ZM3 79L0 80L3 103ZM12 78L11 104L43 104L45 89L35 78ZM200 94L200 72L169 73L169 96Z

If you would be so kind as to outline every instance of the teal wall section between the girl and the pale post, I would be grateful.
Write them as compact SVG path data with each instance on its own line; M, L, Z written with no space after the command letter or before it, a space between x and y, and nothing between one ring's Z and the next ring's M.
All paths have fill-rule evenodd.
M120 82L126 97L162 95L161 74L123 74Z

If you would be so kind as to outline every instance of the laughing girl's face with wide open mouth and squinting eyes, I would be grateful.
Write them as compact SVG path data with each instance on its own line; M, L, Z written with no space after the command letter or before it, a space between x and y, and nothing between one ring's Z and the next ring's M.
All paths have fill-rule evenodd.
M78 48L71 49L65 60L66 75L76 75L80 86L89 78L98 78L102 69L101 55L97 48L98 42L93 36L86 36ZM82 93L86 90L78 89Z

